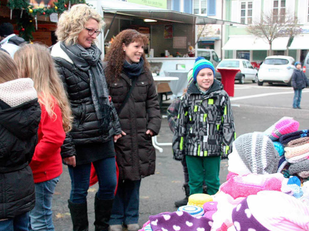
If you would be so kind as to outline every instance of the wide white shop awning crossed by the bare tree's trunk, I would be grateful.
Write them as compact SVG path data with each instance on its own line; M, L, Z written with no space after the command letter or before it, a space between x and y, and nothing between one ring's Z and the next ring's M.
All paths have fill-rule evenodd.
M286 50L289 37L279 37L273 40L272 50ZM261 51L269 50L268 41L251 35L233 36L231 35L222 50L237 50L237 51Z

